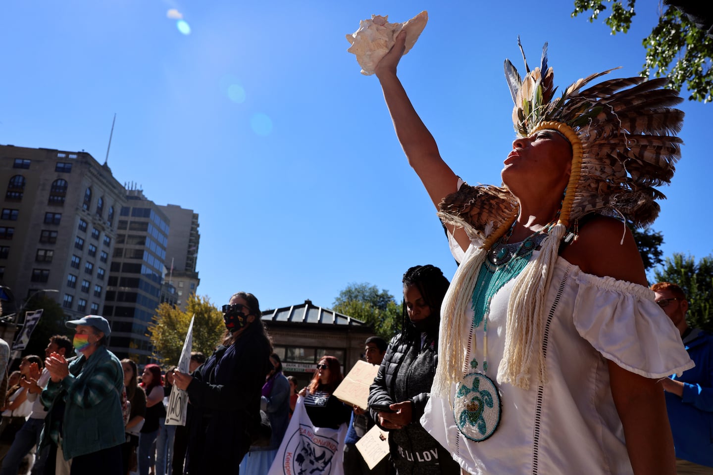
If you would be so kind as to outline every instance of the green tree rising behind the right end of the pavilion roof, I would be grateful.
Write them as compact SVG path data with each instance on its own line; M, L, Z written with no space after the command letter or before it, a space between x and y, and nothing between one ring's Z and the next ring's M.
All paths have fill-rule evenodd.
M388 291L369 283L350 283L334 299L332 310L361 320L389 341L399 331L401 305Z

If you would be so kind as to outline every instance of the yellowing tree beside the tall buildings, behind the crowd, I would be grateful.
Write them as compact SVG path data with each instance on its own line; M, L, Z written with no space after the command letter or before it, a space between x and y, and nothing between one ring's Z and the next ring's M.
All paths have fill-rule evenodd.
M183 342L188 334L190 319L193 322L193 351L204 355L213 353L220 343L225 325L222 312L207 297L191 294L186 301L186 311L161 303L156 308L153 322L148 326L153 344L153 355L163 365L178 365Z

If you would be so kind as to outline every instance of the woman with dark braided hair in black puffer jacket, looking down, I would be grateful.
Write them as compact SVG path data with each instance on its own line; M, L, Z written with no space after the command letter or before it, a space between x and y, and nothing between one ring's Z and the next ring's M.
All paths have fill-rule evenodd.
M391 462L397 475L458 474L419 419L436 373L438 323L448 279L438 267L414 266L404 273L401 333L391 338L369 391L369 407L379 427L389 431Z

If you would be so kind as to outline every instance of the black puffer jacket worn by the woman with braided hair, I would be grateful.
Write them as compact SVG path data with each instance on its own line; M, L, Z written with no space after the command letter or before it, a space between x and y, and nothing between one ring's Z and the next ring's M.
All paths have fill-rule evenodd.
M403 340L400 334L391 338L369 390L369 405L411 401L411 424L389 432L391 461L397 474L460 474L460 467L448 451L419 422L436 373L438 341L426 336L421 348L421 335L413 333ZM371 414L379 424L376 412Z

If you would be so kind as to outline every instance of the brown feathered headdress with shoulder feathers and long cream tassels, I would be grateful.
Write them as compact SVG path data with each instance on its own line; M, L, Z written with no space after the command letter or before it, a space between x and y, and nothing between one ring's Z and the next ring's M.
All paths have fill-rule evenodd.
M518 46L523 51L520 38ZM575 81L555 98L554 74L547 62L547 43L538 68L530 71L525 60L525 78L505 61L518 137L557 130L573 150L572 171L558 219L547 226L548 236L538 256L517 277L508 304L498 382L524 388L529 386L533 364L539 382L547 380L541 350L543 302L560 241L570 224L585 214L619 216L635 226L654 221L660 209L655 200L665 198L655 187L669 183L673 176L682 140L672 134L681 130L684 115L671 108L682 99L676 90L664 89L667 78L610 79L582 90L612 69ZM478 271L488 249L517 217L518 202L506 188L463 184L457 193L443 199L440 209L438 216L444 222L462 226L469 236L478 236L484 243L458 267L442 306L443 334L467 335L470 323L464 314L471 304ZM457 338L441 338L440 345L441 364L434 388L446 394L450 383L462 376L465 349Z

